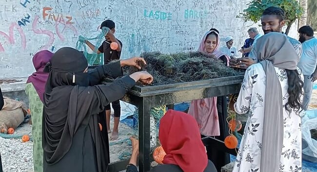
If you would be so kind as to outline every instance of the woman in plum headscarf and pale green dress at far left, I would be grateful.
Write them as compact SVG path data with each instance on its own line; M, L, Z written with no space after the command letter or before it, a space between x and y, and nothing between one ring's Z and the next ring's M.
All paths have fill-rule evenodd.
M43 95L48 78L48 73L43 72L43 69L50 62L52 56L53 53L47 50L37 52L33 56L33 65L36 72L29 76L25 87L25 93L29 98L29 108L32 114L34 172L43 172L42 113Z

